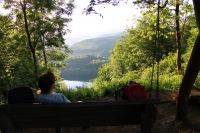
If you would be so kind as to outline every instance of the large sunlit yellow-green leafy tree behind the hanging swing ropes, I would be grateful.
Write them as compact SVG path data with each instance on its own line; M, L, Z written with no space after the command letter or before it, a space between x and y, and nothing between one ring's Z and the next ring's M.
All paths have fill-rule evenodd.
M175 52L176 48L173 45L175 39L173 39L174 30L170 17L172 12L170 10L163 10L163 12L165 15L160 18L161 57L167 56L169 52ZM155 13L155 9L144 11L142 17L138 19L137 26L134 29L128 29L128 34L115 44L110 56L113 77L122 77L133 70L142 71L152 65L156 52L154 31L157 21L156 16L153 16Z

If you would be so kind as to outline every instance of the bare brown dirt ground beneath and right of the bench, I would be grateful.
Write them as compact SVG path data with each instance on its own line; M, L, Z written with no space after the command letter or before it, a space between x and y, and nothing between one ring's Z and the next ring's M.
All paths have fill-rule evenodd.
M153 125L152 133L200 133L200 90L192 90L191 95L195 99L189 100L188 106L188 123L183 125L181 122L175 122L176 103L175 97L178 91L160 91L159 98L161 104L158 105L158 113L156 123ZM155 93L152 92L152 98ZM98 97L93 101L114 101L114 96ZM129 126L105 126L90 127L85 131L81 131L81 127L63 128L63 133L140 133L140 125ZM55 133L54 129L32 129L31 133Z

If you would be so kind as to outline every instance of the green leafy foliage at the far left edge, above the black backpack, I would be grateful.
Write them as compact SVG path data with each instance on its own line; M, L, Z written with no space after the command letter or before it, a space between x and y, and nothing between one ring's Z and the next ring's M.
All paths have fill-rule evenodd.
M0 89L11 88L9 80L10 70L17 60L13 52L12 35L14 23L10 16L0 15Z

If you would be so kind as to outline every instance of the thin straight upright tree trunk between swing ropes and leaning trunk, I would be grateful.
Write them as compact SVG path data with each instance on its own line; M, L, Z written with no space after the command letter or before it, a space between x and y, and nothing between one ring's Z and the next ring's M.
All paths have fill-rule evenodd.
M176 47L177 47L177 72L181 74L181 35L180 35L180 23L179 23L179 5L180 1L176 0L175 9L175 24L176 24Z

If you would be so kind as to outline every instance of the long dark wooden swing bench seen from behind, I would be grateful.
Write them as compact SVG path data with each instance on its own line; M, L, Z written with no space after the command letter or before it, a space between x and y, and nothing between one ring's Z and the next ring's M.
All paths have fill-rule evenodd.
M1 133L28 128L141 125L151 133L159 99L0 105Z

